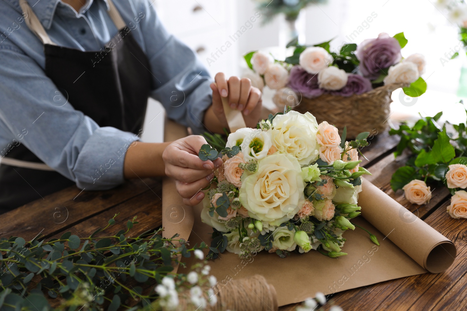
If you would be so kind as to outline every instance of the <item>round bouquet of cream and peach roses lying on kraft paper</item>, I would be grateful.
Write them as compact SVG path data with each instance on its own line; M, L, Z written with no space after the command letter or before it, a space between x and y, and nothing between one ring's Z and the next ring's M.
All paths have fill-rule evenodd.
M358 159L369 133L346 141L345 132L340 137L333 125L288 107L256 129L231 133L220 151L203 145L200 159L224 162L205 189L201 212L214 229L208 257L224 250L240 258L262 250L347 255L342 235L356 226L350 220L360 214L361 175L370 173Z

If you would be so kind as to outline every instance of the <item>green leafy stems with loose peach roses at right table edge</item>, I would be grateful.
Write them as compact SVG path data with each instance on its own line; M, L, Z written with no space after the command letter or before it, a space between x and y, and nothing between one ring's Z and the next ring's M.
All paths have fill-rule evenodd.
M392 175L391 187L403 189L405 198L418 205L432 198L427 181L437 188L447 187L452 197L446 212L453 218L467 218L467 124L451 124L454 132L449 132L446 124L437 123L441 115L422 117L413 126L402 123L389 131L401 138L395 156L406 149L411 153L406 165Z

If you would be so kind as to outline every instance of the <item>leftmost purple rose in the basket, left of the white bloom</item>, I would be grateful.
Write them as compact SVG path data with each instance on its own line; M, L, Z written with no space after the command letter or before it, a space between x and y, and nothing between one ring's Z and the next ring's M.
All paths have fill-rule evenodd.
M308 73L300 66L290 69L289 87L307 98L318 97L324 92L318 87L318 75Z

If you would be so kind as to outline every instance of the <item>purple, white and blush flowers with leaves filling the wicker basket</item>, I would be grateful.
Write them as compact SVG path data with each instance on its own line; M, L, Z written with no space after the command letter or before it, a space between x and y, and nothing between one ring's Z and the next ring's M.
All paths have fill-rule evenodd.
M276 105L296 106L302 96L360 95L392 83L406 84L403 91L410 97L425 93L426 83L420 76L425 58L413 54L403 59L401 49L407 44L403 33L393 37L382 33L358 46L344 44L339 52L331 52L330 42L306 46L293 40L287 45L295 47L293 55L284 61L262 51L250 52L244 58L252 70L244 76L260 90L264 85L276 90Z

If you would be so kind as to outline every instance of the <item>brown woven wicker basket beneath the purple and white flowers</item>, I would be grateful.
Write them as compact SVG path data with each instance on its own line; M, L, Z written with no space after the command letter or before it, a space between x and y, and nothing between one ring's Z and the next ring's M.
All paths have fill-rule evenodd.
M300 113L309 111L318 123L327 121L336 126L340 133L347 126L347 138L355 138L364 131L375 134L387 129L392 92L405 86L388 84L349 97L329 94L313 99L303 97L300 104L292 109Z

